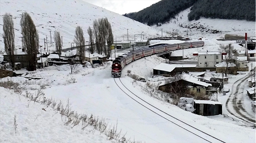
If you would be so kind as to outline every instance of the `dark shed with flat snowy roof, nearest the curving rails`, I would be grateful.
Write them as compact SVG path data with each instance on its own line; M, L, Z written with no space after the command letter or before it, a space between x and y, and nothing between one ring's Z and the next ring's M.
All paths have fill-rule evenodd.
M214 116L222 114L222 103L211 100L194 100L195 114Z

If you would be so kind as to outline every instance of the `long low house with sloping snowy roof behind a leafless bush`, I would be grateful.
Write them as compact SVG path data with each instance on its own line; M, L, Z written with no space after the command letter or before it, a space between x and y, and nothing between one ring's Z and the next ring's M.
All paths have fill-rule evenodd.
M187 94L194 95L197 97L204 97L208 94L208 90L211 90L211 84L202 82L191 75L182 74L181 79L177 81L179 85L185 85L187 87ZM173 92L174 82L163 82L158 88L163 92Z

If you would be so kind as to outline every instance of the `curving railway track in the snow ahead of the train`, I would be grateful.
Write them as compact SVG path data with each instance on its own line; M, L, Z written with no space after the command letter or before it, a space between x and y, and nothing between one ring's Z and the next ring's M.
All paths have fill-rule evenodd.
M210 143L225 143L224 141L211 136L210 134L203 132L181 120L179 120L178 118L175 118L173 116L171 116L170 114L158 109L157 107L153 106L152 104L146 102L145 100L143 100L142 98L138 97L136 94L134 94L132 91L130 91L120 80L120 78L118 78L118 80L116 80L117 78L114 78L114 81L116 83L116 85L130 98L132 98L135 102L137 102L138 104L141 104L142 106L144 106L145 108L147 108L148 110L154 112L155 114L161 116L162 118L168 120L169 122L179 126L180 128L183 128L184 130L186 130L187 132L190 132L192 134L194 134L195 136L210 142Z

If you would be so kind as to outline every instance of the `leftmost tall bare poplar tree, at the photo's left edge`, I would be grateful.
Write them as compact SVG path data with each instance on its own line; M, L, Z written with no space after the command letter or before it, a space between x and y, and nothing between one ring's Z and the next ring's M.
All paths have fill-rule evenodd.
M12 65L12 70L15 69L14 62L14 28L12 15L10 13L5 13L3 17L3 39L4 39L4 49L5 53L10 58L10 65Z

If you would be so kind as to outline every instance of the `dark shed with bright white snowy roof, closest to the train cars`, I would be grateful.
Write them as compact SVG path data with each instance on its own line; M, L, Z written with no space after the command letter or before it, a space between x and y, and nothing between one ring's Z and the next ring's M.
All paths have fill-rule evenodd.
M176 66L174 65L161 63L153 68L153 75L173 76L176 74L175 68Z

